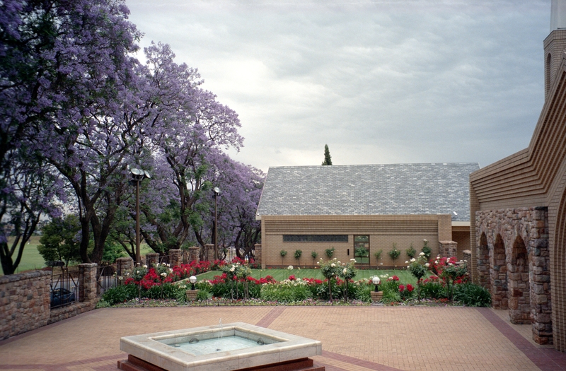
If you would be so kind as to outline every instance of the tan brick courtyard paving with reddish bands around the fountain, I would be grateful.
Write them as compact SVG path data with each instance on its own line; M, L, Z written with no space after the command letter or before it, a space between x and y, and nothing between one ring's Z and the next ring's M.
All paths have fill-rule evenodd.
M160 307L94 310L0 341L0 370L116 370L121 336L247 322L315 338L327 371L566 370L530 325L464 307Z

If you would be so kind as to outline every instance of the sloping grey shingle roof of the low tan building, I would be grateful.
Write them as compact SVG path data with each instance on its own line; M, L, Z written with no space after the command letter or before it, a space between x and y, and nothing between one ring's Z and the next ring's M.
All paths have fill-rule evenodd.
M478 163L270 167L258 216L451 214L469 221L469 175L479 169Z

